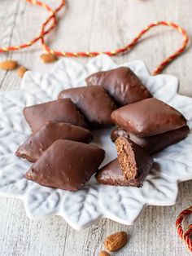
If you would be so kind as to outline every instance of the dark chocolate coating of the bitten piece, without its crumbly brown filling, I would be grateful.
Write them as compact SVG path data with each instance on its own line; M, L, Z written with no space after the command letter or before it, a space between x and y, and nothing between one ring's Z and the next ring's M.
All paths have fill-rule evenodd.
M125 139L125 138L124 138ZM142 187L143 181L149 174L153 165L153 158L143 148L139 147L131 140L127 140L133 149L134 161L136 162L137 170L135 170L134 177L127 179L125 171L120 168L120 159L117 158L103 166L95 175L98 183L103 183L112 186L133 186ZM126 170L129 172L129 170Z

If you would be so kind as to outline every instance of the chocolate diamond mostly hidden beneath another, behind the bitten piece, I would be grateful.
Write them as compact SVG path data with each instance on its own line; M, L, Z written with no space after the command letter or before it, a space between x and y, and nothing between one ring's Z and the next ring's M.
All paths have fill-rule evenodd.
M145 148L148 152L155 153L185 139L189 132L190 128L188 126L183 126L180 129L170 130L164 134L142 138L137 135L129 134L126 130L117 127L111 132L111 140L115 142L117 138L123 136L126 139L131 139L134 143Z

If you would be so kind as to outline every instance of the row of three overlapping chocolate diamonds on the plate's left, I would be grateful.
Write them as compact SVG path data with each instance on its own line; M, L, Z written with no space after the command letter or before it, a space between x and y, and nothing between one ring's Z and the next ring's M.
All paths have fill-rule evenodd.
M88 125L76 104L71 99L37 104L24 108L24 117L33 134L15 155L34 162L25 178L68 191L83 187L98 170L105 152L87 144L93 136L84 128Z

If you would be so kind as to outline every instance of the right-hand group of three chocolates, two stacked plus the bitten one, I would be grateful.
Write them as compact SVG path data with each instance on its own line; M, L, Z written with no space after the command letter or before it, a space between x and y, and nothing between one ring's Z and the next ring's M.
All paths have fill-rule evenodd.
M98 171L99 183L141 187L153 163L150 153L185 139L189 133L185 117L155 98L119 108L111 118L119 126L111 132L118 161L115 159Z

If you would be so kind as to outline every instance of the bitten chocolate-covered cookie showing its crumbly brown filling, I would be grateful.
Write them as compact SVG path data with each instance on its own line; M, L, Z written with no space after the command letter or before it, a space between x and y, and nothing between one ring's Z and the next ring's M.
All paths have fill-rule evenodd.
M153 158L143 148L130 139L116 139L118 159L98 170L98 183L142 187L143 181L153 165Z

